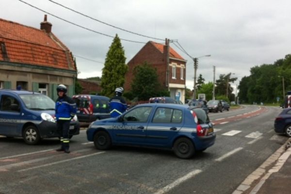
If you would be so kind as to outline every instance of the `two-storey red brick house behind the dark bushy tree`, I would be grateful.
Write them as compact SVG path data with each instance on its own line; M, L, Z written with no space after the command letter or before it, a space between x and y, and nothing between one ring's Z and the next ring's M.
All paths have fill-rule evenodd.
M138 51L128 63L129 70L126 74L125 90L129 91L131 89L130 85L133 79L134 67L147 62L157 69L159 81L164 88L170 91L171 97L179 99L184 103L187 61L168 45L167 40L165 44L149 41ZM169 49L167 47L169 47ZM167 65L167 61L169 65ZM167 67L169 69L168 78Z

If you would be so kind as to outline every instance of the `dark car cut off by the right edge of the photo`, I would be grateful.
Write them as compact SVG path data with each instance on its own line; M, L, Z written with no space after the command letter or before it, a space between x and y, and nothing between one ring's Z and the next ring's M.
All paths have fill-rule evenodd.
M275 132L291 137L291 108L283 111L275 118Z

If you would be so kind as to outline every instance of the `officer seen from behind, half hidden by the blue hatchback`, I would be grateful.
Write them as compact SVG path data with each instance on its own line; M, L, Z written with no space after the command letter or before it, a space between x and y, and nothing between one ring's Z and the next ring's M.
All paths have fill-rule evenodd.
M118 87L115 89L115 97L110 99L110 115L111 117L119 116L127 110L127 104L122 97L124 89L123 87Z

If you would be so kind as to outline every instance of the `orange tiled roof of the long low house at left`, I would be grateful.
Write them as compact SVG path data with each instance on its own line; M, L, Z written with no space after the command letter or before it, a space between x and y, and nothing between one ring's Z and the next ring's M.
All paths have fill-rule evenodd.
M0 42L4 42L8 60L0 47L0 61L76 70L69 49L53 34L0 18Z

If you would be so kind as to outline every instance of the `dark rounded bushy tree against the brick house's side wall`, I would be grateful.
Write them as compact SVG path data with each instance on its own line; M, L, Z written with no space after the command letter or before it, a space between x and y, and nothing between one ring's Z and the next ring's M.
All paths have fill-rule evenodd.
M146 62L133 69L134 78L131 83L131 94L138 100L148 100L154 96L168 96L158 81L157 70Z

